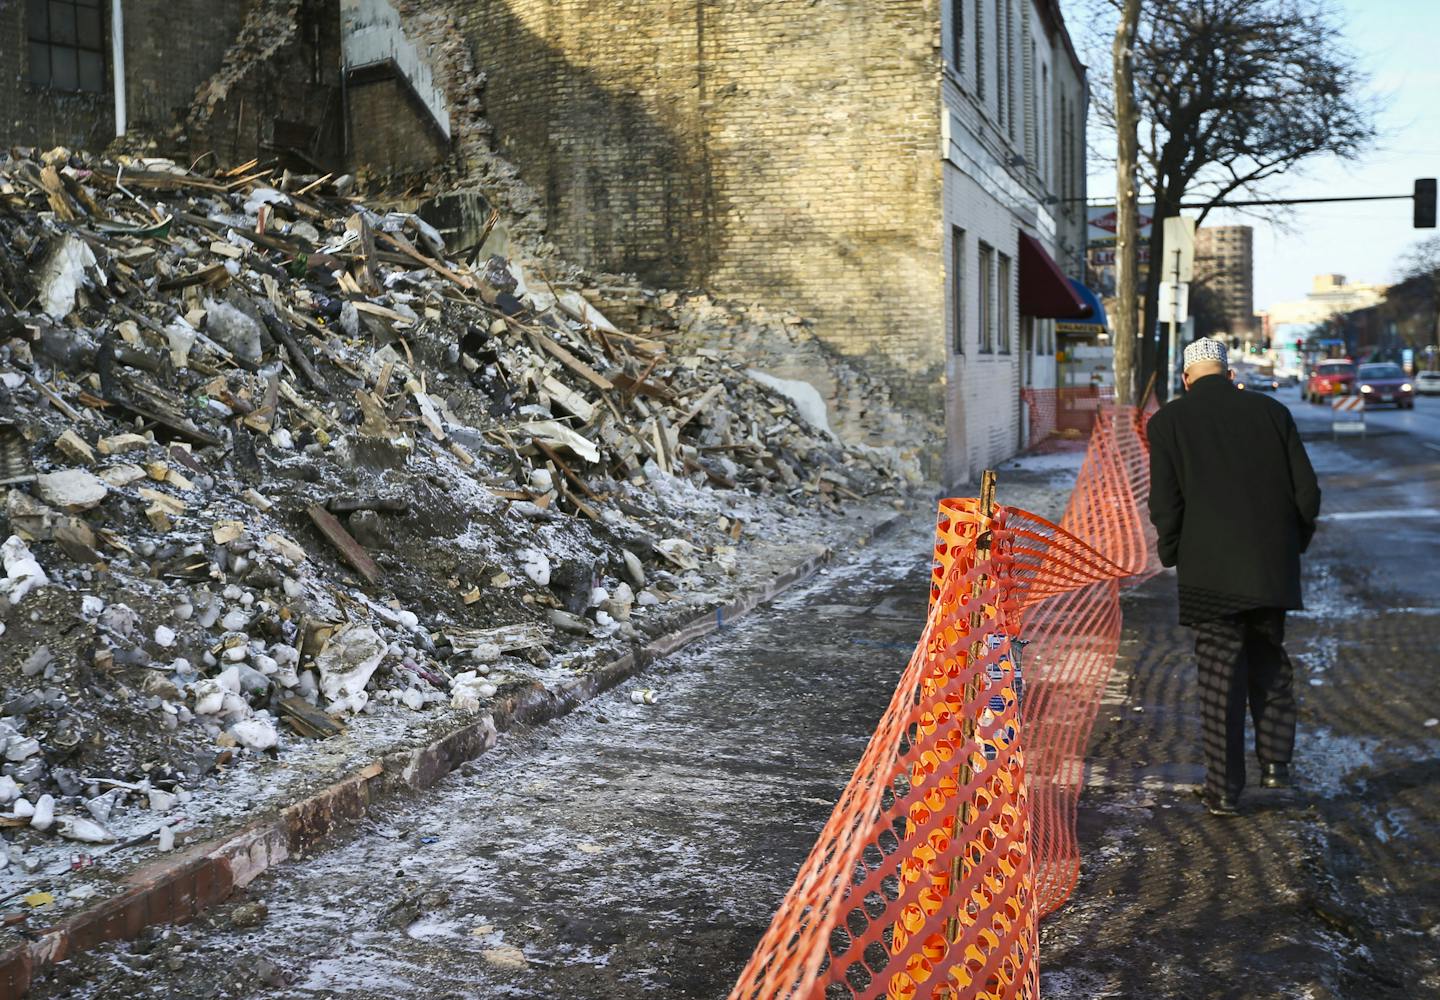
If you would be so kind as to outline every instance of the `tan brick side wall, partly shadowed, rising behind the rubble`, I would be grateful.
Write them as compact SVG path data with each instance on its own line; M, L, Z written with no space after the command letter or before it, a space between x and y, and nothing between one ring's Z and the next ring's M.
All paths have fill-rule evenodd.
M937 432L937 0L400 6L468 43L562 254L812 317Z

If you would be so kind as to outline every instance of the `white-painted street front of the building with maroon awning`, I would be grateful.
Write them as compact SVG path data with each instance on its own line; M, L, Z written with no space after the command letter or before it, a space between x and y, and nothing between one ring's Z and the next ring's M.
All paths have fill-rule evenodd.
M1056 385L1051 262L1084 275L1089 89L1058 0L946 0L943 19L950 484L1022 447L1020 389Z

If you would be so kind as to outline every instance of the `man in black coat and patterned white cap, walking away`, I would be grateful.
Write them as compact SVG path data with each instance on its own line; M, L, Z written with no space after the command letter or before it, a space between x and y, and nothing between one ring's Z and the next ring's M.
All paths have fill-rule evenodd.
M1300 608L1300 553L1320 488L1290 411L1237 389L1218 340L1185 347L1185 395L1149 422L1151 520L1179 575L1179 621L1195 628L1205 748L1201 798L1238 811L1246 703L1260 781L1290 784L1295 693L1284 612Z

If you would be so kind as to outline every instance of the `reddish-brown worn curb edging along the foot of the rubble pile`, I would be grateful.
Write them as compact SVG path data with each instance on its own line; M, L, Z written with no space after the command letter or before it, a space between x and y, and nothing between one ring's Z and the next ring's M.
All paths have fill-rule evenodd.
M890 514L848 539L848 548L887 533L903 513ZM531 683L501 699L491 712L426 746L396 751L359 768L330 787L275 810L236 831L192 844L143 865L122 892L66 916L33 941L0 955L0 997L23 997L35 976L107 941L128 941L148 927L179 924L223 902L235 889L281 862L321 844L338 827L361 818L376 800L402 790L429 788L461 764L495 745L520 723L546 722L615 687L648 664L723 628L782 591L814 575L835 555L827 548L733 602L706 611L596 671L556 690Z

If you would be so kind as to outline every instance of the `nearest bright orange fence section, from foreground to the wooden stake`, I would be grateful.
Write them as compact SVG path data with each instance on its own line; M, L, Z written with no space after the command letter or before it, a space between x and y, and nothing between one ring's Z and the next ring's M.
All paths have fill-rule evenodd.
M1035 996L1009 545L942 501L920 643L734 997Z

